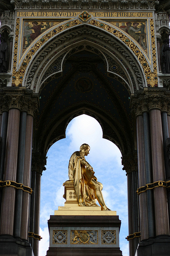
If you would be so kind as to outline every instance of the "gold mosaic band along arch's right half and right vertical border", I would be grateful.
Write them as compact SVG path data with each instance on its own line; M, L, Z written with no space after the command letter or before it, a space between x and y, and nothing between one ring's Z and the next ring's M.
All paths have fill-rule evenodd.
M153 26L153 19L150 19L151 21L151 37L152 37L152 48L153 51L155 51L155 33L154 33L154 26ZM90 20L89 24L99 27L101 29L104 29L110 33L112 33L113 35L117 36L120 40L122 40L123 42L125 42L125 44L135 53L135 55L137 56L138 60L141 63L141 66L143 68L145 77L147 78L147 82L149 85L151 85L152 87L157 86L158 83L158 78L157 78L157 65L156 65L156 54L153 53L153 62L155 61L155 66L154 66L154 73L151 73L151 69L149 67L149 64L147 62L147 60L145 59L144 55L142 54L142 52L138 49L138 47L134 44L134 42L132 42L129 37L127 37L126 35L124 35L123 33L119 32L117 29L112 28L111 26L108 26L102 22L98 22L94 19ZM155 55L155 56L154 56ZM155 72L156 70L156 72Z

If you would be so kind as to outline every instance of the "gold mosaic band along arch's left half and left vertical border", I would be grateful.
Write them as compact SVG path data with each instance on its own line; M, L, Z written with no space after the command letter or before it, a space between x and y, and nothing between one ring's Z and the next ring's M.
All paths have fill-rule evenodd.
M18 34L19 34L19 18L17 18L16 22L16 32L15 32L15 45L14 45L14 63L13 63L13 76L12 76L12 83L13 86L20 86L23 80L23 76L25 74L25 71L29 65L30 60L32 59L32 56L36 53L36 51L46 42L48 39L53 37L54 35L60 33L61 31L64 31L65 29L68 29L70 27L76 26L82 24L80 20L75 19L71 20L70 22L66 22L61 26L56 27L51 32L45 34L42 36L42 38L39 39L35 43L35 45L30 49L30 51L27 53L25 59L22 61L21 67L19 68L19 71L16 72L16 58L17 58L17 49L18 49Z

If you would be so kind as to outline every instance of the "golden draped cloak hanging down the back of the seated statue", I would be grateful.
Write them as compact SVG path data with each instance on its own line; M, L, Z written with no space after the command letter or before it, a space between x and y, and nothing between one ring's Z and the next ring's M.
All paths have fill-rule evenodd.
M84 181L83 173L85 165L81 165L81 160L85 160L80 151L72 154L68 165L68 177L74 181L76 196L80 206L98 206L95 204L94 190Z

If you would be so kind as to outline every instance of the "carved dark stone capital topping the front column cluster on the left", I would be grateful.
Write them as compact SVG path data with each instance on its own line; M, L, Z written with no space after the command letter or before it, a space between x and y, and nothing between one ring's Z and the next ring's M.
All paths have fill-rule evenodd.
M19 109L33 115L38 111L39 97L32 90L4 88L0 92L0 112Z

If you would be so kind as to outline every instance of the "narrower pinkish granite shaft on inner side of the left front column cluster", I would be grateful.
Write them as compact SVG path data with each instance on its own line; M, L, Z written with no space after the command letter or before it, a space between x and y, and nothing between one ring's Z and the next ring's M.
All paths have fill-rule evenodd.
M25 162L23 173L23 185L30 187L31 182L31 156L32 156L33 117L27 115ZM21 238L28 240L30 194L23 191L22 215L21 215Z

